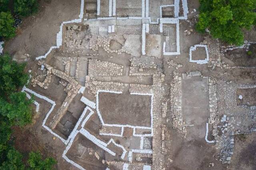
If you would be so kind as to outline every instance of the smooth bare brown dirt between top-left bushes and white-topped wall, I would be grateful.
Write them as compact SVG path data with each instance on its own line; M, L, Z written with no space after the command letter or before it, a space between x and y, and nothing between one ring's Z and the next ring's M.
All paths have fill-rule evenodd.
M34 60L44 55L56 44L56 34L63 21L78 18L80 0L41 0L40 10L35 16L23 20L17 30L18 35L5 43L5 51L17 61L25 59L28 53Z

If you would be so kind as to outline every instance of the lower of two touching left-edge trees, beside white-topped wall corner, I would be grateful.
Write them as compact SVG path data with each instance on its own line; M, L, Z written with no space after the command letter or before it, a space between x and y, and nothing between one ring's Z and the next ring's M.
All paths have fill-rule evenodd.
M24 92L12 93L7 102L0 97L0 114L8 117L13 125L23 127L32 122L32 99L26 99Z

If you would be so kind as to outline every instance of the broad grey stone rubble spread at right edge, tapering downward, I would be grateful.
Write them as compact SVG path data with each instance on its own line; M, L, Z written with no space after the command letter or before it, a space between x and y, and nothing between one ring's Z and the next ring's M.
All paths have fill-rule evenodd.
M236 90L255 87L255 84L236 84L214 78L209 81L209 100L212 99L209 101L209 106L214 105L214 107L210 106L212 112L210 111L209 121L213 123L212 136L216 141L215 147L219 150L217 158L223 164L230 164L234 152L234 135L252 133L250 127L256 123L255 106L238 106ZM221 97L225 99L226 108L216 107L216 100ZM224 115L217 117L219 112Z

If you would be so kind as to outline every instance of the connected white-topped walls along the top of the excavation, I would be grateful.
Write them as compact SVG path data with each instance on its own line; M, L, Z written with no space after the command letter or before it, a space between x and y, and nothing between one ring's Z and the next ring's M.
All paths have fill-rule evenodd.
M179 10L180 10L180 0L175 0L174 4L170 4L167 6L173 6L174 7L174 18L162 18L161 14L162 14L162 7L165 6L160 6L160 18L157 18L156 22L151 21L151 18L149 17L149 9L148 9L148 4L149 4L149 0L142 0L142 16L141 17L124 17L124 18L120 18L120 17L113 17L115 16L115 0L113 0L113 5L112 5L112 1L110 0L109 3L109 12L111 14L109 14L109 17L98 17L96 19L89 19L89 20L128 20L128 19L133 19L133 20L148 20L146 21L146 23L142 24L142 55L146 54L145 51L145 45L146 45L146 35L145 33L148 33L149 30L149 24L159 24L159 29L160 32L163 32L163 24L166 23L172 23L172 24L176 24L176 52L166 52L165 51L165 46L166 46L166 42L164 42L163 44L163 55L180 55L180 33L179 33L179 20L187 20L187 14L188 14L188 3L187 0L181 0L182 1L182 9L183 9L183 15L184 16L179 16ZM52 49L56 49L59 48L62 45L62 31L63 31L63 25L64 24L69 24L69 23L80 23L82 22L82 18L84 15L84 0L81 0L81 8L80 8L80 15L78 19L75 20L71 20L71 21L64 21L62 22L62 24L60 25L60 31L57 33L57 37L56 37L56 46L52 46L50 47L49 51L40 57L37 57L36 59L44 59L47 57L47 55L50 54L50 52L52 51ZM100 0L97 0L97 16L100 15ZM84 20L87 20L87 18L85 18ZM89 21L88 20L88 21ZM111 31L110 31L111 30ZM114 32L114 25L111 25L111 27L108 27L108 32ZM88 37L90 37L90 35L88 35ZM99 37L98 37L99 38ZM97 39L97 37L96 37ZM90 40L91 41L91 40ZM65 40L65 42L70 42ZM72 42L70 42L72 43ZM70 45L70 43L68 43ZM78 42L79 43L79 42ZM95 44L97 46L98 43L90 43L90 44ZM69 46L68 45L68 46ZM108 44L109 45L109 44ZM108 46L104 47L106 48L105 51L108 51L107 48ZM97 47L90 47L90 49L94 49ZM122 50L123 52L124 50Z

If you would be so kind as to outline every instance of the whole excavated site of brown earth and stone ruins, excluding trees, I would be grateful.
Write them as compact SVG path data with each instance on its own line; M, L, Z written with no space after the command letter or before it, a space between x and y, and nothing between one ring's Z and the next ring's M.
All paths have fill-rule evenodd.
M36 101L15 147L60 170L255 169L256 30L227 46L195 31L198 8L40 1L4 49L28 61L22 90Z

